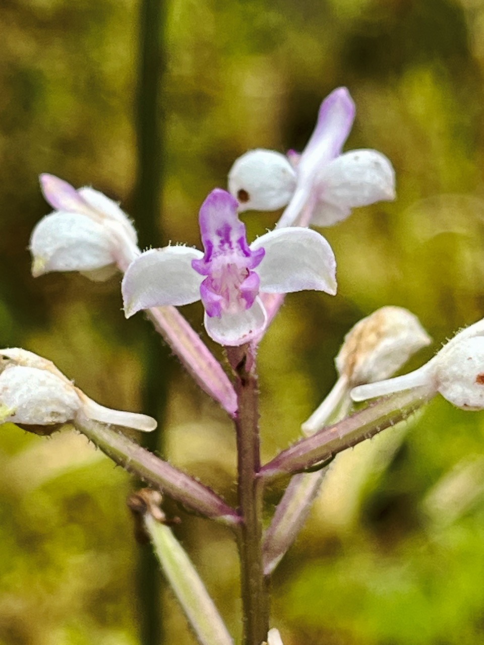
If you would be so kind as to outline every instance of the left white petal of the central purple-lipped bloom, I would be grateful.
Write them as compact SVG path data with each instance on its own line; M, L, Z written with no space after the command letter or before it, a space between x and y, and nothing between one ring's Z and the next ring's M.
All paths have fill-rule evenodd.
M203 277L192 268L192 260L203 253L187 246L166 246L141 253L121 283L126 318L141 309L195 303L200 299Z

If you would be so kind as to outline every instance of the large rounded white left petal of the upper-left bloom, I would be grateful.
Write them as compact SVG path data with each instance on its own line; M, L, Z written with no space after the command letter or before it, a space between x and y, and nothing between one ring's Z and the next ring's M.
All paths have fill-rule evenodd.
M30 237L34 277L50 271L92 271L112 264L112 236L86 215L54 212Z

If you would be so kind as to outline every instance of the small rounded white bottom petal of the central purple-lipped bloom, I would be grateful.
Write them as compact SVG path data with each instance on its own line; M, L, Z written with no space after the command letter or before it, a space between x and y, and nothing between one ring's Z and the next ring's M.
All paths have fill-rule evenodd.
M205 313L205 329L210 338L221 345L243 345L259 335L266 323L267 315L259 298L256 298L250 309L222 313L220 318L210 318Z

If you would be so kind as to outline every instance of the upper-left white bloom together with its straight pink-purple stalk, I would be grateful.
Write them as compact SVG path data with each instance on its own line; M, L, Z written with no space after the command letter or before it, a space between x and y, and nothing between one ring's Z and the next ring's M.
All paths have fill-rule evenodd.
M30 239L34 277L52 271L79 271L103 280L126 272L141 254L127 215L105 195L76 190L54 175L41 175L46 201L55 209L35 226ZM199 335L173 306L149 312L159 332L199 386L233 416L236 395L227 374Z

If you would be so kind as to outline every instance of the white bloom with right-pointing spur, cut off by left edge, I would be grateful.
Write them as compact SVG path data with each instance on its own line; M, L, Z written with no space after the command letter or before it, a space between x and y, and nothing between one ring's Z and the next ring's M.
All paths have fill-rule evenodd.
M150 432L152 417L111 410L92 401L47 359L20 348L0 350L0 422L57 426L79 411L106 424Z

